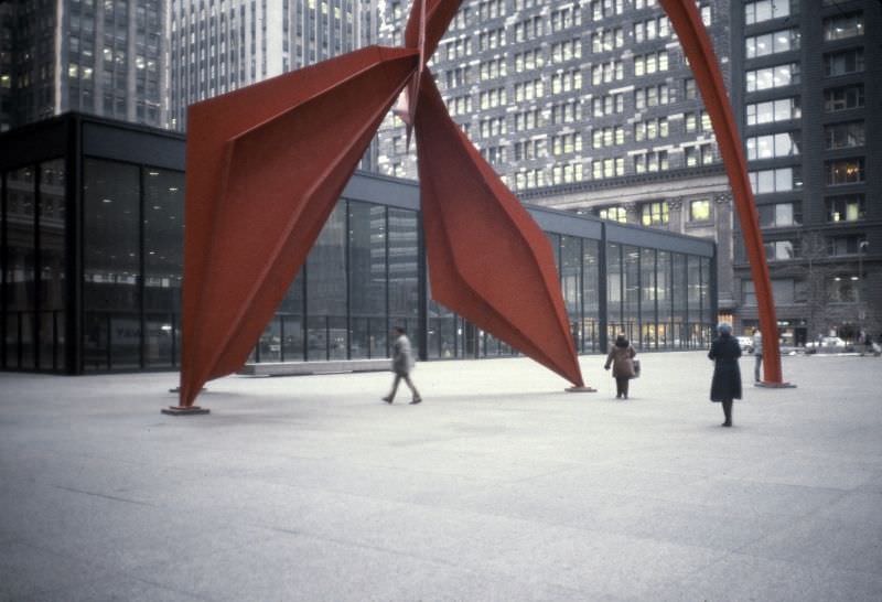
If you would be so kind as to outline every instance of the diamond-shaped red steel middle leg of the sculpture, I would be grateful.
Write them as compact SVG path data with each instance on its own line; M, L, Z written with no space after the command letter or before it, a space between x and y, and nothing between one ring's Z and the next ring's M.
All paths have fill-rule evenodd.
M548 238L450 118L431 74L419 103L432 298L582 387Z

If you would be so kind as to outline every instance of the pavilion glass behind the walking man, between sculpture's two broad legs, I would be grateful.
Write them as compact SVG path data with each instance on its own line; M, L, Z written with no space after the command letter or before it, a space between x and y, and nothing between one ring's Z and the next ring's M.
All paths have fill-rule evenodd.
M443 308L435 305L443 312ZM431 334L438 357L450 343ZM431 315L431 308L430 308ZM306 264L255 347L250 362L302 362L387 357L389 331L400 325L415 348L419 333L417 212L341 200Z

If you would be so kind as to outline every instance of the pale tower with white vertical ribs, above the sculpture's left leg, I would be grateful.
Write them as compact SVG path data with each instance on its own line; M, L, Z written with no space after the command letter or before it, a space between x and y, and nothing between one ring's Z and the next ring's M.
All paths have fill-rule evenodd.
M186 107L375 43L376 0L170 0L171 127Z

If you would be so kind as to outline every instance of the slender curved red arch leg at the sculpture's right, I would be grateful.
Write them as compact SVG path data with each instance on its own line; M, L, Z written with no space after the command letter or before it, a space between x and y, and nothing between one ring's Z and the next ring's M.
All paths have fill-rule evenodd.
M744 234L744 246L751 262L751 277L756 290L760 311L760 330L763 332L764 381L782 385L778 326L775 316L775 302L768 277L768 265L763 248L763 234L760 217L747 178L747 162L741 146L741 137L735 126L732 106L727 97L725 85L720 72L713 45L701 22L695 0L659 0L668 14L680 45L689 60L696 83L704 100L704 109L710 115L713 133L722 154L732 196Z

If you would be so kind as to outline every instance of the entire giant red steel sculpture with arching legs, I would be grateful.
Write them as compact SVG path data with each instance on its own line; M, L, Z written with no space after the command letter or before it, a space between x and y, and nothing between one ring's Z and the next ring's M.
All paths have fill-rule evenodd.
M405 47L369 46L190 107L180 406L237 370L383 118L417 135L434 299L583 387L550 245L453 122L427 68L461 0L416 0ZM693 0L662 0L689 56L745 232L761 326L768 269L725 89ZM455 176L451 176L455 174ZM488 244L490 243L490 244ZM781 381L775 336L766 380Z

